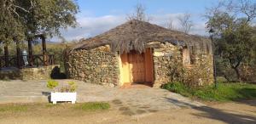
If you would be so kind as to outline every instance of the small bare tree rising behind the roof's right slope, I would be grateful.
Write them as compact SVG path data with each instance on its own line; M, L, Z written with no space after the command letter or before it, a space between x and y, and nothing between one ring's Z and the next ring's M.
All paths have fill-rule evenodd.
M189 33L191 27L194 25L193 21L191 20L191 14L185 13L180 15L177 19L181 25L181 31L184 33Z

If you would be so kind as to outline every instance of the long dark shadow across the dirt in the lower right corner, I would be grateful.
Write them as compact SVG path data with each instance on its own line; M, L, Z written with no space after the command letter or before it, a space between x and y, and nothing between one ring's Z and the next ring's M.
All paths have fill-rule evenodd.
M189 106L192 109L200 110L202 112L201 114L193 114L194 116L206 117L213 120L224 121L226 123L256 123L255 116L233 114L225 112L224 110L218 110L208 106L195 106L193 104L183 103L182 101L178 101L176 99L166 99L172 104L177 104L179 106Z

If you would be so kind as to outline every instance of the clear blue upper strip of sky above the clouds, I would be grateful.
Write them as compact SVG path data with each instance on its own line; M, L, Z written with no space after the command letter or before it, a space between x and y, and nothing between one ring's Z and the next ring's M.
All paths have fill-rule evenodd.
M201 14L205 7L218 0L78 0L82 14L90 13L94 16L106 14L127 14L142 3L148 14L163 13L197 13Z

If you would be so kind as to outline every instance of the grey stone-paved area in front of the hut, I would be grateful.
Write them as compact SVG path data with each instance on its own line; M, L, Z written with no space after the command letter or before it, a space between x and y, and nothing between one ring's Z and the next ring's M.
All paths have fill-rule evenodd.
M60 80L68 82L70 80ZM124 115L136 116L160 110L203 106L196 101L160 88L104 87L78 83L78 102L108 101ZM0 81L0 104L48 102L46 81Z

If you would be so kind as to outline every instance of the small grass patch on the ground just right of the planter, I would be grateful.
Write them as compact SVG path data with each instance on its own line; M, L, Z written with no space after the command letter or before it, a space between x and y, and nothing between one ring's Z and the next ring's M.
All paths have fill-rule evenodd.
M76 104L74 109L76 110L85 110L85 111L94 111L94 110L108 110L110 108L110 104L104 102L91 102L84 104Z

